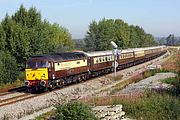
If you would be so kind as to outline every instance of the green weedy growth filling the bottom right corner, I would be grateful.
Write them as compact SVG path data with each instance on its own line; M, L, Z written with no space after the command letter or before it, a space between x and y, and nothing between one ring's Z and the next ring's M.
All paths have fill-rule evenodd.
M150 93L135 102L123 101L123 108L133 118L143 120L180 120L180 98Z

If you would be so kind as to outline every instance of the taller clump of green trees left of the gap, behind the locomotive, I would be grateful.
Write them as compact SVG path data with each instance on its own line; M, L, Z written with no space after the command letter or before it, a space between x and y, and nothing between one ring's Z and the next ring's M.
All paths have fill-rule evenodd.
M23 5L0 23L0 83L16 80L31 56L73 49L70 32L56 23L42 20L36 8Z

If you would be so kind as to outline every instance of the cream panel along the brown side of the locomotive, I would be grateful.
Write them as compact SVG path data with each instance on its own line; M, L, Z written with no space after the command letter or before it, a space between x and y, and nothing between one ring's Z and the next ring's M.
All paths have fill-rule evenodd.
M55 71L87 66L87 59L55 63Z

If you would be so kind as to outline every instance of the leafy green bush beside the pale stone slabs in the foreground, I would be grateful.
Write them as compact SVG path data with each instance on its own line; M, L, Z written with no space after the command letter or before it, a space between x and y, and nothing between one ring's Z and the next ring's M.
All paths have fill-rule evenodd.
M57 117L60 120L97 120L98 118L92 112L92 109L80 102L71 102L64 105L58 105Z

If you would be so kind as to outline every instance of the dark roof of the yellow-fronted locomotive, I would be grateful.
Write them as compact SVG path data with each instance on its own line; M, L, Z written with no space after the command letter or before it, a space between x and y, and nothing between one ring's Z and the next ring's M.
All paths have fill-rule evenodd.
M46 59L50 61L66 61L73 59L81 59L85 58L86 55L82 52L67 52L67 53L52 53L52 54L44 54L44 55L36 55L33 56L32 59Z

